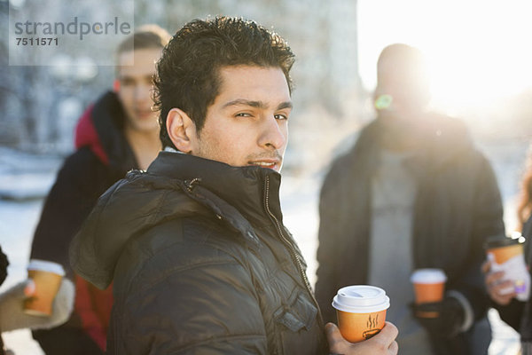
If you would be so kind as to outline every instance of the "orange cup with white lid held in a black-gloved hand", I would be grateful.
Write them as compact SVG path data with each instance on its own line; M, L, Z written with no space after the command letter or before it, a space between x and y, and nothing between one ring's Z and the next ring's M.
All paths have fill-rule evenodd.
M447 276L441 269L418 269L411 275L416 304L441 302ZM437 318L438 312L417 312L418 317Z

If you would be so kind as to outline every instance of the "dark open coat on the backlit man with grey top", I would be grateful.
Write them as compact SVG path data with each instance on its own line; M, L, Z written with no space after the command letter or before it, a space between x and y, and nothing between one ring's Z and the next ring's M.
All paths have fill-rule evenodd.
M423 149L408 162L418 188L411 237L413 265L443 269L447 289L465 296L474 319L483 319L489 305L481 275L483 242L505 233L497 181L461 122L430 114L425 123ZM325 320L335 318L330 304L338 288L368 282L372 176L386 139L380 124L377 119L361 131L348 154L332 163L322 187L316 296ZM403 261L387 263L399 267ZM489 340L489 329L482 336ZM466 340L457 339L457 343ZM448 344L436 347L440 353L457 355L442 351Z

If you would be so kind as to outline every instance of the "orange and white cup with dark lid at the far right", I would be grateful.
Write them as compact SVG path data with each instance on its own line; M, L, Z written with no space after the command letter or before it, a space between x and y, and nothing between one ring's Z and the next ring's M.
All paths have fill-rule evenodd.
M518 300L528 301L530 273L523 254L523 244L517 239L493 237L484 247L491 262L491 272L505 272L505 280L511 280L513 283L512 287L501 289L501 295L515 292Z

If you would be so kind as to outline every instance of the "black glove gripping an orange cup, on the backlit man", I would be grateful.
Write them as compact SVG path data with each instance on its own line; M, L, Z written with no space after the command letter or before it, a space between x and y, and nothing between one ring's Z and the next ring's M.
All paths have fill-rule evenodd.
M413 304L412 313L429 335L447 339L458 335L465 319L462 305L451 296L442 302Z

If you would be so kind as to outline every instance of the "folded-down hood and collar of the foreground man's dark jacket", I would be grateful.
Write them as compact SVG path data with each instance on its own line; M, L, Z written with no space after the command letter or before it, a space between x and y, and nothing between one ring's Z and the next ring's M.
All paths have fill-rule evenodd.
M254 248L258 237L250 222L270 224L266 204L282 223L279 185L273 170L160 152L146 172L129 172L100 197L71 243L70 264L106 288L131 238L165 221L197 215L223 221Z

